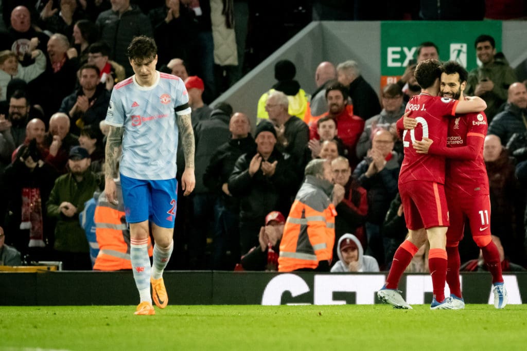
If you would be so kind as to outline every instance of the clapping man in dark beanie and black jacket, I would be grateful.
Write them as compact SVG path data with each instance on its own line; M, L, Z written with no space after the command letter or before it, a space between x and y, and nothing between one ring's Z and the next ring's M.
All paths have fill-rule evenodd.
M256 233L271 210L285 212L291 205L297 175L289 158L275 147L276 130L267 121L256 127L257 153L247 153L236 161L228 189L240 200L241 252L258 244Z

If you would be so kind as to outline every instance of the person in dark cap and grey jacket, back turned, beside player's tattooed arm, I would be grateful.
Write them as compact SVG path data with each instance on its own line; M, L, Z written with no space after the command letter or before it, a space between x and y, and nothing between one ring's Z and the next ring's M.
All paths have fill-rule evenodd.
M220 105L220 104L219 104ZM232 115L232 107L227 103L221 103L212 111L210 118L200 121L194 130L196 139L196 187L192 192L192 220L190 222L191 233L189 240L190 268L210 268L204 266L206 262L205 252L207 236L216 228L210 218L219 215L215 204L218 193L211 191L203 183L203 174L210 163L211 157L220 146L229 141L229 121Z

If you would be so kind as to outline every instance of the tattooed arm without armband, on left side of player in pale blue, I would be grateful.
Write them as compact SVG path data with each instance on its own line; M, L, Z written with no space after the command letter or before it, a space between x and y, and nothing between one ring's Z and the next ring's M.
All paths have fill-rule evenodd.
M110 203L114 203L117 198L114 178L117 178L117 163L121 156L121 144L123 139L124 127L110 126L108 139L106 139L106 156L104 172L104 193Z

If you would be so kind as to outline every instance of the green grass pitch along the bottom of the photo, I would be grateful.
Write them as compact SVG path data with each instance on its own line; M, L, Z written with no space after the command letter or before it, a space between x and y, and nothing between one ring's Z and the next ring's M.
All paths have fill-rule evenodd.
M0 350L525 350L527 305L0 307Z

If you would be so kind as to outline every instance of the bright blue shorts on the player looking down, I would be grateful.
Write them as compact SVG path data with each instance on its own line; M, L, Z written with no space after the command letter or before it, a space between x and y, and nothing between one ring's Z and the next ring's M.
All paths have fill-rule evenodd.
M178 181L143 180L121 174L126 222L150 220L163 228L173 228L177 208Z

